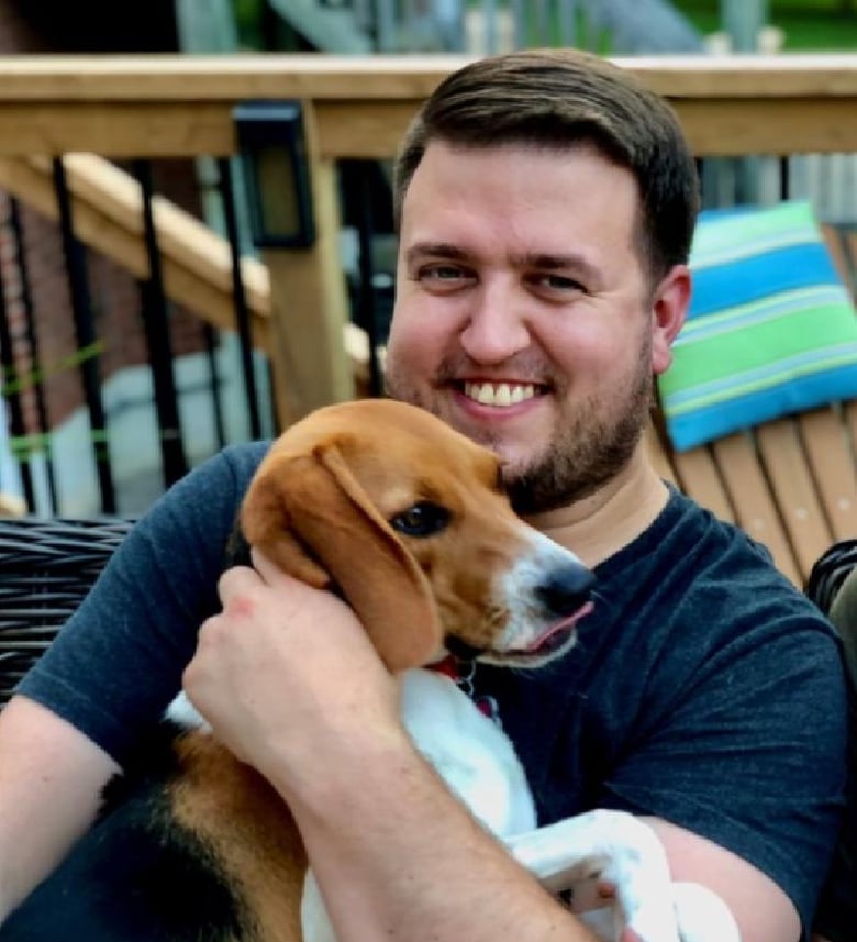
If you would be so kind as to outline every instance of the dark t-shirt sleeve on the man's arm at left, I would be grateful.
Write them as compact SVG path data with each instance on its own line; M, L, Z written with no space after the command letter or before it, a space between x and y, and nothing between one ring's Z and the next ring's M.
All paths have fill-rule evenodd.
M18 692L124 764L178 691L197 631L219 609L227 541L264 450L226 448L164 495Z

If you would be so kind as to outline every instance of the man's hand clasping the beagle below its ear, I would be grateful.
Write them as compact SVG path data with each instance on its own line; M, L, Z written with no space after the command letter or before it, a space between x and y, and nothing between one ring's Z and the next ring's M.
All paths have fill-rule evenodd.
M396 684L345 602L253 562L222 576L183 686L238 758L300 795L361 730L404 735Z

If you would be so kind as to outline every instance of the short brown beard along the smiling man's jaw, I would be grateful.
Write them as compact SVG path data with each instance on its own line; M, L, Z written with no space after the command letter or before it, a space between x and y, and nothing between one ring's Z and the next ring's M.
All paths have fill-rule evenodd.
M443 400L421 391L393 363L387 375L387 390L401 399L433 412L447 423ZM432 388L448 386L454 377L465 375L461 364L444 363ZM526 376L526 370L519 372ZM553 395L560 401L564 385L550 383ZM653 402L652 341L642 344L633 372L620 389L608 397L589 397L575 404L561 428L541 454L525 463L505 465L503 484L512 507L519 514L531 516L555 510L596 494L622 472L631 461L648 420ZM502 455L502 436L490 432L474 435L459 429L478 444Z

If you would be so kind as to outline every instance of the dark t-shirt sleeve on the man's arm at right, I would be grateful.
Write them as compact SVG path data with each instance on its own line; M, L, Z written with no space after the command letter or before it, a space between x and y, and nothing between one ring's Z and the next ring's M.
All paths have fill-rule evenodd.
M716 650L664 656L655 669L672 672L674 683L653 688L671 695L639 705L636 739L606 780L605 800L755 865L791 898L809 938L842 814L843 668L821 618L800 607L768 618L764 608Z

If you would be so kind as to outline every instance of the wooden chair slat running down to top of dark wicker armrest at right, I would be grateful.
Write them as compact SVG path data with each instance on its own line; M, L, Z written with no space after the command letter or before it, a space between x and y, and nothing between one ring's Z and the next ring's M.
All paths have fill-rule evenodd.
M756 429L756 441L761 472L805 580L833 539L797 428L790 419L766 422Z

